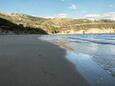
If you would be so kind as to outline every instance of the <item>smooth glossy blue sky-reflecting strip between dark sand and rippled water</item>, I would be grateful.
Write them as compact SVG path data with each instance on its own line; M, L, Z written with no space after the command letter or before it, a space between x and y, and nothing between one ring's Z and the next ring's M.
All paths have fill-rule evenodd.
M66 58L75 65L77 71L79 71L92 86L115 85L115 79L92 61L92 56L67 51Z

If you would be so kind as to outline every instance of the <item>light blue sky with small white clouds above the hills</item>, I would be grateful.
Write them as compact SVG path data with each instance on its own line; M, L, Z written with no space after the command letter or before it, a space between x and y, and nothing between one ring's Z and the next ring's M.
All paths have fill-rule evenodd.
M115 0L0 0L0 11L44 17L115 14Z

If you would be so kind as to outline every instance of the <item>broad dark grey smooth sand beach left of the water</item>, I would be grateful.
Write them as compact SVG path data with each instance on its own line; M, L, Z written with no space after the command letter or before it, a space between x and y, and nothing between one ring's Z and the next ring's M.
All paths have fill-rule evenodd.
M90 86L66 51L37 35L0 35L0 86Z

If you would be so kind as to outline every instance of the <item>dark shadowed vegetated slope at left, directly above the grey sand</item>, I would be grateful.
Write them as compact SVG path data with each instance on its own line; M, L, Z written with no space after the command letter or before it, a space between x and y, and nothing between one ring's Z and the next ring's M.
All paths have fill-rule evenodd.
M41 28L24 27L22 24L15 24L6 19L0 18L0 32L15 34L47 34Z

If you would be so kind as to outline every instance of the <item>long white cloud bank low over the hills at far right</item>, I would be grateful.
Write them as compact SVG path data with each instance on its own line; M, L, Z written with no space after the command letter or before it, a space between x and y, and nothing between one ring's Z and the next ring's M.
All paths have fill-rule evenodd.
M87 14L83 18L90 20L99 20L99 19L115 20L115 12L109 12L104 14Z

